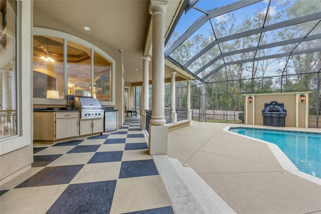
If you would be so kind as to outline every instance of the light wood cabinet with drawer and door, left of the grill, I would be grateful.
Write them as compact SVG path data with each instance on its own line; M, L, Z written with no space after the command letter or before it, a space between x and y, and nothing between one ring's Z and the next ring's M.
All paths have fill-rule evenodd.
M79 136L79 112L34 112L34 140L50 141Z

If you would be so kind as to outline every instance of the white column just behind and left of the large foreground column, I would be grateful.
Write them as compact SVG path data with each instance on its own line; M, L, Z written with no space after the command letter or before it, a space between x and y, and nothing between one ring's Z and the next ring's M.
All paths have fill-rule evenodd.
M148 110L148 64L149 64L149 56L143 56L142 59L142 108L140 112L140 129L146 129L146 112Z

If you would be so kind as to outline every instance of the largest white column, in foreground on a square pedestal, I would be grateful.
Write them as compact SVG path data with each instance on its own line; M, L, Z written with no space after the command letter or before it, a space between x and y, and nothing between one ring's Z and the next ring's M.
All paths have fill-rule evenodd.
M152 108L149 121L148 150L150 155L166 155L168 126L165 120L165 11L167 1L150 1L152 19Z

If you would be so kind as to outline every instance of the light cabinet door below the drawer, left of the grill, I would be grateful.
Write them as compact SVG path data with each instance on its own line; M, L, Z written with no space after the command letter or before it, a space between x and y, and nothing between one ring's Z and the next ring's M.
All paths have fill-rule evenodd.
M78 118L56 119L56 139L78 136Z

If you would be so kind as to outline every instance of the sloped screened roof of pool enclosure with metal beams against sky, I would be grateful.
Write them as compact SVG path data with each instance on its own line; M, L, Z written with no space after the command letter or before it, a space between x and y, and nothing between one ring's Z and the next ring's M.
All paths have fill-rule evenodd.
M292 56L321 56L318 0L191 0L184 9L166 40L165 58L202 82L229 66L254 78L254 67L265 63L273 76L287 69Z

